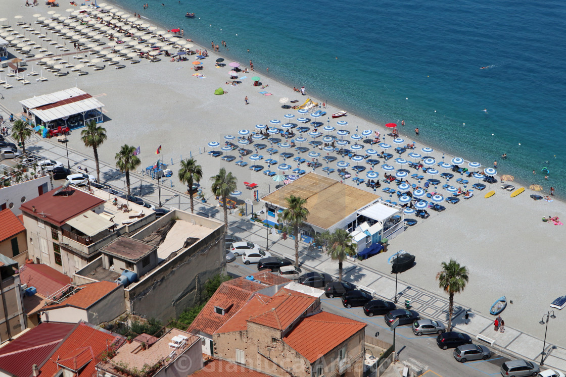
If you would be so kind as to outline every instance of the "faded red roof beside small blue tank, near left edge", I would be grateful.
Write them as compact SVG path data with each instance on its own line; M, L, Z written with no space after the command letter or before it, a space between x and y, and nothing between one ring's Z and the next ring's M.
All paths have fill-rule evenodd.
M29 263L20 268L20 280L28 287L35 287L37 293L48 297L55 292L61 291L67 284L71 284L71 278L55 268L48 265Z

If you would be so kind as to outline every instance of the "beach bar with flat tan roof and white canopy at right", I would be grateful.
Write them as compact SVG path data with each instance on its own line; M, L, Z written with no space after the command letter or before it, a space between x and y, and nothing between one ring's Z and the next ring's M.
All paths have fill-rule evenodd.
M305 241L310 241L315 233L341 228L354 236L358 250L362 251L404 229L401 207L381 201L374 193L314 172L261 198L267 204L270 225L281 223L278 215L286 208L285 198L291 195L307 200L309 214L301 227Z

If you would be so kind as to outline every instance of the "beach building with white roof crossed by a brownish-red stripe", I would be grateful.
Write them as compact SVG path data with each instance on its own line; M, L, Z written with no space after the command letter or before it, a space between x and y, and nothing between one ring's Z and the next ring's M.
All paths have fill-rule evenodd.
M79 88L43 94L24 99L20 103L24 114L35 126L35 131L39 131L41 127L47 131L58 127L80 128L91 120L103 122L104 104ZM44 137L47 131L43 132Z

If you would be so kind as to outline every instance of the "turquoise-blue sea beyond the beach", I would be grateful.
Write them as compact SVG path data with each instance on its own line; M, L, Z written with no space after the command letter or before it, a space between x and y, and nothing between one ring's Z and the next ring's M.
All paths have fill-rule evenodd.
M402 132L419 127L433 148L566 193L564 1L117 3L205 47L226 41L221 53L259 75L269 67L366 119L404 119Z

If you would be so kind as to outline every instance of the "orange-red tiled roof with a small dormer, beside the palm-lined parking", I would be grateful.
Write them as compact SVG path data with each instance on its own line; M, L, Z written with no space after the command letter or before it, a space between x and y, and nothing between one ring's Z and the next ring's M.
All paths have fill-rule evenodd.
M211 299L203 307L203 310L196 316L188 332L195 333L201 331L206 334L213 334L237 313L255 292L272 285L289 283L289 279L280 278L280 276L273 275L271 272L260 272L254 275L254 277L265 284L255 283L255 281L247 280L246 278L232 279L220 284L215 294L212 295ZM228 312L224 315L217 314L214 309L215 306L225 306L226 303L231 303L232 305Z

